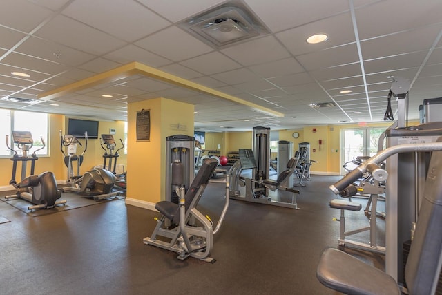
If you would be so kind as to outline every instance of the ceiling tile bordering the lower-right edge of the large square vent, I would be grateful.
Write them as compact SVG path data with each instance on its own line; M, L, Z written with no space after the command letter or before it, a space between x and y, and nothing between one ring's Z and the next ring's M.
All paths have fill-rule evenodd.
M287 49L281 46L273 36L253 39L220 51L238 61L242 66L253 66L290 57Z

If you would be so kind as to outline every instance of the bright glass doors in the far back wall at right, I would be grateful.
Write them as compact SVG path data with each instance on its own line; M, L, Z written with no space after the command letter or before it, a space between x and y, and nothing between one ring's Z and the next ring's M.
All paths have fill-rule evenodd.
M343 164L350 162L357 157L372 157L378 152L378 141L384 128L372 129L345 129L343 131ZM346 168L352 170L357 165L347 164ZM341 171L345 174L348 171Z

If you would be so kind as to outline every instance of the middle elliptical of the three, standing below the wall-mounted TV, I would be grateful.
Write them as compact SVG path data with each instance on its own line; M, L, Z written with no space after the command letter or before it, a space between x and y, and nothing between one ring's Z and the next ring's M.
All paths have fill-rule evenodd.
M113 191L115 184L115 175L106 169L94 168L91 171L79 175L80 166L83 163L83 155L88 149L88 133L84 132L85 146L81 155L77 155L77 144L82 146L77 137L73 135L61 135L60 131L60 149L64 155L64 164L68 167L68 183L70 187L64 187L63 192L73 191L79 193L85 198L93 198L94 200L102 200L106 198L117 198L119 191ZM67 148L68 154L64 152ZM73 162L77 162L77 175L73 173Z

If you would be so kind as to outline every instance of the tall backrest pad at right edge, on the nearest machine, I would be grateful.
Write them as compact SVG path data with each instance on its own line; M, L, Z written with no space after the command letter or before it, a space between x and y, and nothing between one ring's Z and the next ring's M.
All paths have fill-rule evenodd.
M431 294L430 290L439 278L442 254L442 151L432 153L423 195L405 266L405 281L410 294Z

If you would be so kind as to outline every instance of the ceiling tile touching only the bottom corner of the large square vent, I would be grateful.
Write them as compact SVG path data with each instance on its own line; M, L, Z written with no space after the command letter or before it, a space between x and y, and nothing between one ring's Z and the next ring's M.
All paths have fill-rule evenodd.
M193 68L206 75L213 75L227 70L240 68L240 65L235 61L218 52L207 53L206 55L200 55L193 59L187 59L180 62L180 64Z

